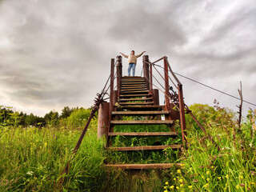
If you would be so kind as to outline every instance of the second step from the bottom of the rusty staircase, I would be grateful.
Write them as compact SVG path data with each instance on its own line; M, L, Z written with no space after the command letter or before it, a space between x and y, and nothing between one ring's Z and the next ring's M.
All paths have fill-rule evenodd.
M168 145L168 146L123 146L123 147L107 147L106 150L124 151L124 150L164 150L166 148L180 149L182 145Z

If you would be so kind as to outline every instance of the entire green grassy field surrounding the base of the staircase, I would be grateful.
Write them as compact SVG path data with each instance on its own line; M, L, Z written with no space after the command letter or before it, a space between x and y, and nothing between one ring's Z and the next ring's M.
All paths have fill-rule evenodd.
M70 159L81 129L2 126L0 191L255 191L256 142L250 122L253 115L249 114L238 129L234 114L228 110L203 105L190 108L218 143L220 151L186 117L189 148L182 154L160 151L154 156L150 154L151 158L142 158L145 154L133 156L147 163L149 159L152 162L182 162L182 168L106 170L103 162L133 162L134 158L107 154L103 148L105 141L97 139L97 120L94 120L62 185L59 182L62 170ZM131 127L127 129L134 131ZM125 138L116 138L114 145L122 146L124 142L142 146L154 141L141 138L129 142ZM178 141L158 138L158 142Z

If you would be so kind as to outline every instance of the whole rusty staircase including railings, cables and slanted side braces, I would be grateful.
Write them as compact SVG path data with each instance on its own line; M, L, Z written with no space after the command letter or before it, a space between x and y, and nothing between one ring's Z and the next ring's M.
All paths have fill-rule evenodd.
M157 62L163 61L163 66L157 65ZM116 72L114 73L114 67L116 66ZM163 69L163 74L156 68ZM163 83L159 82L159 77L155 78L157 72L163 79ZM70 170L71 159L74 159L74 155L77 153L79 146L81 146L82 138L86 134L86 130L90 125L92 119L94 119L96 112L98 111L98 138L106 137L106 150L114 152L128 152L128 151L159 151L170 148L171 150L182 150L187 146L186 142L186 121L185 121L185 109L186 114L194 119L201 130L206 134L206 137L210 139L210 142L217 147L220 151L220 147L214 139L206 132L206 129L202 126L198 119L195 118L192 111L184 104L182 83L170 68L170 64L165 57L159 58L155 62L150 62L147 55L143 56L143 74L144 77L122 77L122 57L118 56L116 62L114 58L111 59L110 76L106 81L106 84L102 91L97 94L94 99L94 106L90 112L90 117L86 122L84 130L78 139L76 146L72 152L70 160L66 163L62 174L67 174ZM116 79L116 86L114 87L114 79ZM153 79L158 82L158 86L154 84ZM108 83L110 82L110 85ZM170 86L172 83L172 86ZM162 87L159 88L159 86ZM174 86L174 87L173 87ZM153 89L154 87L154 89ZM176 89L175 89L176 88ZM110 90L108 92L108 90ZM159 90L164 97L164 104L159 105ZM109 95L109 98L104 98ZM109 99L110 102L106 102ZM162 120L161 115L165 118ZM122 119L123 116L132 116L134 119ZM143 118L136 118L143 117ZM178 120L178 121L176 121ZM174 129L174 125L179 122L178 129ZM114 126L145 126L145 125L167 125L168 131L152 132L146 131L114 131ZM175 143L172 145L148 145L148 146L112 146L112 138L117 137L169 137L177 138L178 135L182 135L182 144ZM161 143L160 143L161 144ZM175 162L175 161L174 161ZM112 164L106 162L106 167L116 167L121 169L166 169L170 166L181 166L181 163L144 163L144 164ZM64 179L61 178L59 183L63 183Z

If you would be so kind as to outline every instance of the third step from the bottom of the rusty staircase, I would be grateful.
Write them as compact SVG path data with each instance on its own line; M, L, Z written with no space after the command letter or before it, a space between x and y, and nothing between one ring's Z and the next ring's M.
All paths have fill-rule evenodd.
M108 136L177 136L176 132L110 132Z

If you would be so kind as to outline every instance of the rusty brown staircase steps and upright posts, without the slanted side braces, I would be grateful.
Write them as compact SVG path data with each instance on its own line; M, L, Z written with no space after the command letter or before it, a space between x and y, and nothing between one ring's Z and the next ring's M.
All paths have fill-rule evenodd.
M159 105L158 89L153 89L152 66L154 63L149 62L148 56L143 58L144 77L122 77L122 57L118 56L117 66L117 90L114 90L114 59L111 61L110 74L110 103L102 103L98 116L98 137L105 134L106 150L108 151L143 151L143 150L182 150L186 142L186 125L184 124L184 103L180 97L182 89L178 94L170 94L167 58L164 60L164 80L165 87L164 97L165 105ZM157 61L158 62L158 61ZM169 65L170 66L170 65ZM180 83L179 83L180 84ZM181 84L180 84L181 85ZM178 85L179 86L179 85ZM182 86L180 86L182 88ZM175 92L174 92L175 93ZM182 99L182 102L180 102ZM183 106L182 106L183 105ZM178 110L174 110L174 107ZM182 111L180 109L183 109ZM182 117L181 117L182 115ZM123 117L131 117L129 120ZM164 116L164 118L163 118ZM183 119L182 119L183 118ZM174 123L180 120L182 127L183 143L171 145L153 145L153 146L112 146L112 140L115 137L166 137L177 138L178 130L174 130ZM141 125L166 125L170 127L169 131L135 131L122 132L114 129L115 126L141 126ZM170 168L170 166L179 163L152 163L152 164L109 164L106 166L118 167L121 169L152 169L152 168Z

